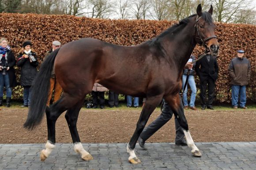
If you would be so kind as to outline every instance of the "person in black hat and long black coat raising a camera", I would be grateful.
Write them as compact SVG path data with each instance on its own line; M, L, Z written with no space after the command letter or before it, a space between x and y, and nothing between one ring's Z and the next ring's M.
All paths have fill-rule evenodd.
M31 98L31 85L37 74L37 56L32 49L32 43L25 41L23 47L19 50L17 65L21 67L20 79L21 86L23 86L23 105L21 107L30 106Z

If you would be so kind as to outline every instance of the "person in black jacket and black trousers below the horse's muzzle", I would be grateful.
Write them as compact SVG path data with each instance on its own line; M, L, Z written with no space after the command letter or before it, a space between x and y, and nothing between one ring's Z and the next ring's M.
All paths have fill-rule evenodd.
M196 62L196 73L200 78L200 98L202 110L207 106L213 109L212 102L215 98L215 81L218 78L218 63L216 57L207 54ZM206 100L206 90L208 84L208 101Z

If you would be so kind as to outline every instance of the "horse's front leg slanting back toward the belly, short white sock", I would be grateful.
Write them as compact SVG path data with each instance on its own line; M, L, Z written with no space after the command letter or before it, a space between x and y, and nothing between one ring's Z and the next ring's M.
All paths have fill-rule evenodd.
M162 100L162 95L147 98L146 103L142 109L142 112L139 116L139 120L137 122L136 130L134 134L132 135L132 138L127 145L127 152L130 154L128 160L130 163L137 164L140 163L140 160L137 158L134 148L136 145L136 142L138 141L139 135L143 131L144 127L147 124L147 120L149 119L152 112L154 112L154 109L159 105L159 103Z

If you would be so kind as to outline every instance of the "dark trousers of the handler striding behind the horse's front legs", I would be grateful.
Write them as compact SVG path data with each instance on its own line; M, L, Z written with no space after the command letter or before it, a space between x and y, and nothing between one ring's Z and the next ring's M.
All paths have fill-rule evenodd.
M181 101L182 103L182 101ZM164 126L169 119L173 116L173 111L171 110L169 104L164 100L162 113L158 118L156 118L148 127L145 127L140 137L147 141L149 137L151 137L158 129ZM176 138L175 141L183 141L184 140L184 132L182 127L180 126L178 119L175 117L175 128L176 128Z

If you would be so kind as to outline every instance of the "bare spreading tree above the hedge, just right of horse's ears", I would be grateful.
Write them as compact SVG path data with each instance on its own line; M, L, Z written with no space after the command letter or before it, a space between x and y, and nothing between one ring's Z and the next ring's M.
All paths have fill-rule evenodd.
M252 10L252 0L210 0L215 8L214 17L218 22L239 23L242 10ZM241 14L241 12L240 12Z

